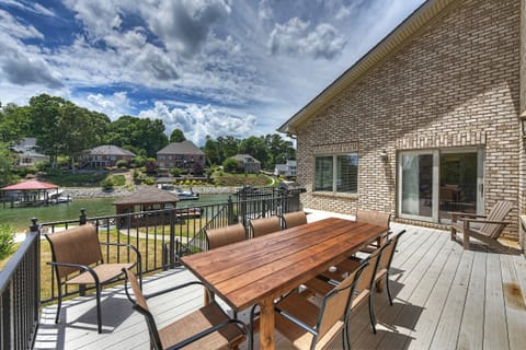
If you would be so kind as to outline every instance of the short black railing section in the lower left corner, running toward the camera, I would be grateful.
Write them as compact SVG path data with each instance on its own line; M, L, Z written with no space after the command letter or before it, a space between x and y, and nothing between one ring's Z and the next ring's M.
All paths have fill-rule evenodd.
M31 349L41 306L41 244L36 226L0 271L0 349Z

